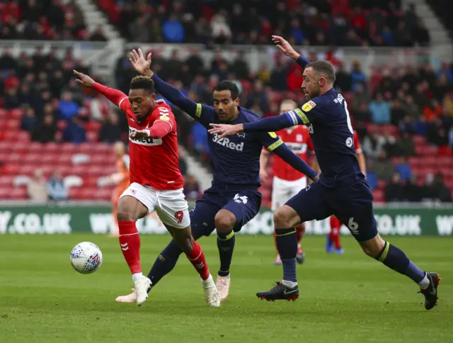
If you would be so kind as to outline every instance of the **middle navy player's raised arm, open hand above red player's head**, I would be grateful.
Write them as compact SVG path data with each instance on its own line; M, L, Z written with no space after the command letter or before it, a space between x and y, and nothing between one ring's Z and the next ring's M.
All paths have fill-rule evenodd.
M188 113L189 116L195 119L200 118L202 109L200 104L197 104L195 103L195 101L190 100L178 89L171 86L170 84L167 84L160 77L154 74L154 72L151 71L151 52L147 55L147 58L145 60L142 49L139 49L138 52L136 50L132 50L129 60L134 69L137 70L137 72L153 79L156 90L159 91L159 93L162 94L164 98L168 99L180 109Z

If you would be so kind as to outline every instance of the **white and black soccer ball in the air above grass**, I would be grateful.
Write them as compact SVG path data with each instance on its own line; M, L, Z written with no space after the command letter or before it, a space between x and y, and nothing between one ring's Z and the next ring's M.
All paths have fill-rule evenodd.
M81 242L72 249L69 257L71 264L81 274L97 271L102 264L102 252L91 242Z

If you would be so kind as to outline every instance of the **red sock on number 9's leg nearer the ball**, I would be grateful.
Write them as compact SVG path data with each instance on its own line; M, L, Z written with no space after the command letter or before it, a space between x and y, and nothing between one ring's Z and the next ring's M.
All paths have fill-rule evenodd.
M141 273L140 236L134 222L118 222L120 247L132 274Z

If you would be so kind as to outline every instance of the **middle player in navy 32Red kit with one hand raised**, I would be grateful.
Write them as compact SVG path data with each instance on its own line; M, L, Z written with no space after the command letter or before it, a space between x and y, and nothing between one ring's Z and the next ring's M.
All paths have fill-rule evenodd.
M130 60L137 72L154 80L156 90L162 96L202 123L207 130L213 122L253 123L260 119L256 114L239 106L239 89L231 81L221 81L214 87L214 107L202 105L188 99L178 89L166 84L151 72L151 54L145 60L141 50L138 53L134 50ZM217 229L220 269L216 285L223 301L229 291L229 266L234 250L234 232L241 230L260 209L261 193L258 192L258 187L263 146L310 179L318 178L316 171L289 150L273 132L239 133L232 137L212 134L208 135L208 144L214 180L211 188L205 191L190 212L190 220L195 240L209 236ZM153 286L173 269L180 254L181 250L171 241L149 272L148 277Z

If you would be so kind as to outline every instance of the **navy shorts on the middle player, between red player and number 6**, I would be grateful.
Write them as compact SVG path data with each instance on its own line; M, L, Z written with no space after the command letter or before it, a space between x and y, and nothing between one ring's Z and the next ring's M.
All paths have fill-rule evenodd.
M215 230L215 215L219 210L229 210L236 217L234 232L241 230L252 220L261 207L261 193L257 190L223 191L207 189L202 198L190 210L190 226L193 236L209 236Z

